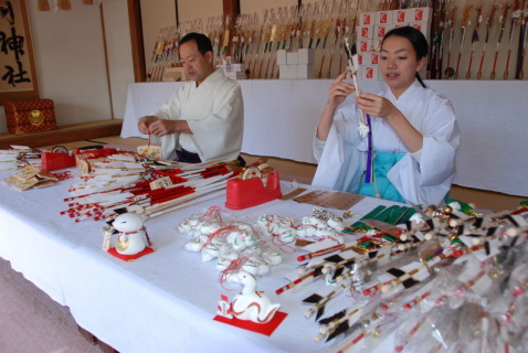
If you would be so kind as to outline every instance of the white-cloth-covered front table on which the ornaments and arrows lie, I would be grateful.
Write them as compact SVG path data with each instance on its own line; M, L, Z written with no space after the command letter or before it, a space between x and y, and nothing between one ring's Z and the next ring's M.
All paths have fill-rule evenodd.
M2 172L3 179L11 173ZM217 197L146 222L154 254L126 263L102 250L104 222L74 223L65 210L71 180L59 185L19 192L0 185L0 257L56 302L71 309L76 322L123 353L129 352L323 352L331 343L315 343L314 320L304 318L300 300L316 291L329 291L321 282L281 296L283 276L296 267L296 254L283 253L284 264L258 279L257 289L282 304L288 315L268 338L213 319L221 295L234 297L237 285L219 284L213 263L183 249L188 239L179 223L210 206L222 207L228 220L252 222L261 214L292 216L296 222L313 206L275 200L231 211ZM284 184L287 192L289 184ZM393 203L365 199L352 207L356 221L376 205ZM115 239L114 239L115 240ZM342 304L350 297L341 296ZM338 301L339 302L339 301ZM379 346L377 352L390 351Z

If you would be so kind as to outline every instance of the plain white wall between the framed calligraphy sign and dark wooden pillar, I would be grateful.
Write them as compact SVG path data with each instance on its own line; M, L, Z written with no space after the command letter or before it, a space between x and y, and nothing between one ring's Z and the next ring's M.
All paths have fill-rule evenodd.
M39 11L38 1L27 4L40 96L54 100L57 125L122 119L128 84L134 82L127 1L103 2L109 75L97 6L72 1L68 11ZM0 109L0 133L6 132Z

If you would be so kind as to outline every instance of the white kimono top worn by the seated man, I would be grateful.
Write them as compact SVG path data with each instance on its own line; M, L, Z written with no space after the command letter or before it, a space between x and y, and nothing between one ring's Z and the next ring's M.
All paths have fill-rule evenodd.
M161 145L163 159L176 160L180 147L198 153L202 162L239 157L244 129L242 90L221 68L198 87L194 81L186 82L151 115L165 120L187 120L192 130L154 138L154 143Z

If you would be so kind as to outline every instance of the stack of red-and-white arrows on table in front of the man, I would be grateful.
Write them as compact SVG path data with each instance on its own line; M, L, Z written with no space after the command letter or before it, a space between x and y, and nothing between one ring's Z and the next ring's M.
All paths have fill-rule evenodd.
M228 180L240 173L236 161L159 164L119 158L94 163L83 183L68 190L68 208L61 214L75 222L124 212L151 218L224 194Z

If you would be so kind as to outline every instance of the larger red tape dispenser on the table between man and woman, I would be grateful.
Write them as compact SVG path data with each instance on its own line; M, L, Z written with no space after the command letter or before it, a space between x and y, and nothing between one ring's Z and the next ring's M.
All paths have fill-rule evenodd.
M228 181L226 193L225 207L231 210L253 207L283 196L278 172L267 174L265 186L260 178L232 179Z

